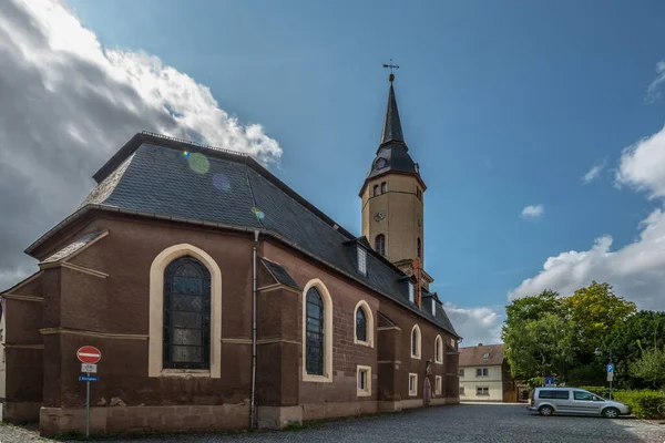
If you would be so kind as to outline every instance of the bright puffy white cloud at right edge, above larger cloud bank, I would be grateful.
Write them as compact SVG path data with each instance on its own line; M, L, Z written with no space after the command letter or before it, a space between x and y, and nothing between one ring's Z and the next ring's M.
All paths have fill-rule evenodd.
M623 151L616 182L644 190L649 198L665 197L665 127Z

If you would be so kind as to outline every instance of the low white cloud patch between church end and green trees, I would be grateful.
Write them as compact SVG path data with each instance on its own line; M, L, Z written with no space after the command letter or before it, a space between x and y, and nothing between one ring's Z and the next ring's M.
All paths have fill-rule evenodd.
M458 308L450 302L444 305L444 309L454 329L464 339L463 346L501 343L503 313L488 307Z

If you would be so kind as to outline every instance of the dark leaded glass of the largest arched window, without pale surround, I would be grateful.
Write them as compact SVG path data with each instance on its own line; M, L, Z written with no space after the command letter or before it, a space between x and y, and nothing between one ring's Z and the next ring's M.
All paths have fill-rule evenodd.
M194 257L166 267L163 326L163 368L209 369L211 272Z

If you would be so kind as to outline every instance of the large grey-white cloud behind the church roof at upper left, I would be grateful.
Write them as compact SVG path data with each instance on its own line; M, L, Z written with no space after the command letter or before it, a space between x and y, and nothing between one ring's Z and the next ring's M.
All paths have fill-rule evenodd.
M69 215L90 176L142 130L248 153L282 148L205 85L143 52L103 48L57 0L0 1L0 290L32 271L22 250Z

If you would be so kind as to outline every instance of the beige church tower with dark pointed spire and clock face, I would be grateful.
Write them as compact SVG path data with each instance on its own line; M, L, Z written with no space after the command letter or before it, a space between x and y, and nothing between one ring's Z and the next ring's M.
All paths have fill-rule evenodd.
M376 157L360 189L362 235L388 260L409 275L424 258L423 195L427 186L405 142L395 87L389 76L388 105ZM427 288L431 278L423 274Z

